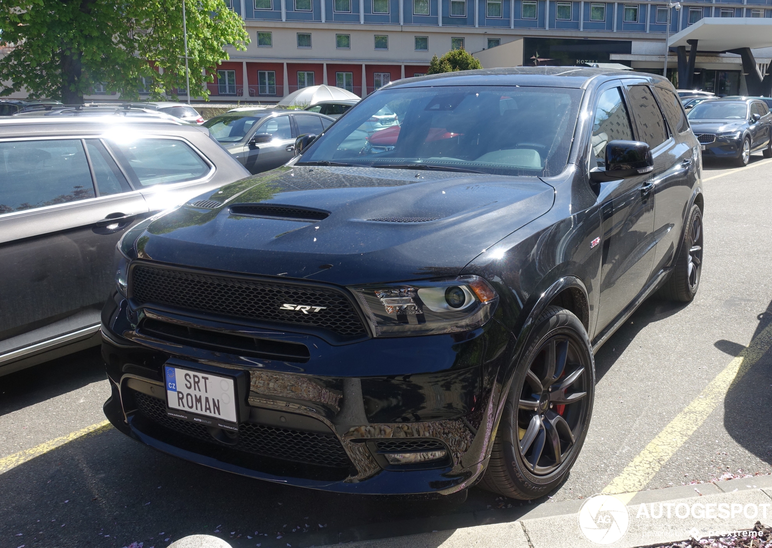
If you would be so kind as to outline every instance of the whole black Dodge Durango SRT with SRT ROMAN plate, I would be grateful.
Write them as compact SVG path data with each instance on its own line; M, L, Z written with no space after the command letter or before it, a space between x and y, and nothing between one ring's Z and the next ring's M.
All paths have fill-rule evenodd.
M396 123L373 129L382 109ZM699 287L699 143L670 83L404 79L296 150L120 241L110 422L295 486L554 489L587 435L594 352L655 291Z

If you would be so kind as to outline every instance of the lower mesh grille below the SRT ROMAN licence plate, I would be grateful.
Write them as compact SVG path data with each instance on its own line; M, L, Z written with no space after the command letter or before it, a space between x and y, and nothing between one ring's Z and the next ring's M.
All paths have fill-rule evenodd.
M215 445L274 459L334 468L350 466L350 460L343 445L340 445L340 441L332 433L302 432L245 422L239 425L239 441L235 445L225 445L212 438L206 426L168 416L163 400L136 390L131 392L139 412L144 417L175 432Z

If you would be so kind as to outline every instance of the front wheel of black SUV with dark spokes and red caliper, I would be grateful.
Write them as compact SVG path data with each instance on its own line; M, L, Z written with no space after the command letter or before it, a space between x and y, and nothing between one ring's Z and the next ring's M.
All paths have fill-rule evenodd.
M560 486L584 444L594 390L595 362L584 325L565 308L547 307L515 369L480 486L523 500ZM550 451L555 439L558 449Z

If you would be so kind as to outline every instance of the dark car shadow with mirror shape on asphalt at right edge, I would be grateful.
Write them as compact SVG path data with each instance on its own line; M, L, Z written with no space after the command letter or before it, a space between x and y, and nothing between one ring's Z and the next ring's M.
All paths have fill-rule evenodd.
M772 324L772 303L757 315L759 324L753 333L757 338ZM767 335L768 336L768 335ZM730 356L738 356L744 346L734 341L716 341L716 348ZM751 344L753 345L753 344ZM741 366L740 371L743 371ZM772 462L772 352L750 365L738 375L724 398L724 428L732 438L762 462ZM736 472L732 470L732 472ZM745 471L753 473L755 471Z

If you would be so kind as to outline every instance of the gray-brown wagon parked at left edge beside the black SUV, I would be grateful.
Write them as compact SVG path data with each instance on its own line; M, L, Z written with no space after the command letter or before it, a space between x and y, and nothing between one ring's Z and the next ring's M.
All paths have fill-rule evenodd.
M249 173L208 130L141 116L0 123L0 375L100 344L115 247Z

